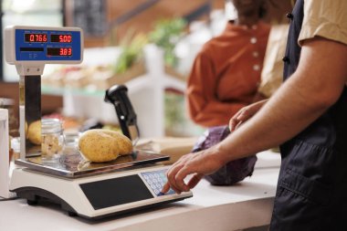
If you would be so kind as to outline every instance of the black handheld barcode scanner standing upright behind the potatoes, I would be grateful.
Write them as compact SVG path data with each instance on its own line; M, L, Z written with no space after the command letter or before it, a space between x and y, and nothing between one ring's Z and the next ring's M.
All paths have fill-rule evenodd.
M128 89L124 85L114 85L105 92L105 102L113 104L118 121L121 125L121 131L126 135L133 145L140 138L139 128L137 126L136 113L132 108L128 97Z

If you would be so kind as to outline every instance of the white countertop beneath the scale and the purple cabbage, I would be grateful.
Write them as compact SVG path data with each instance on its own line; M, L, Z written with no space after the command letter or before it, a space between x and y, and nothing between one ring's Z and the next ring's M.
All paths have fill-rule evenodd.
M70 217L58 205L31 206L23 199L0 202L0 227L4 231L210 231L265 226L271 218L279 162L279 153L260 152L255 172L239 184L213 186L203 180L192 198L97 222Z

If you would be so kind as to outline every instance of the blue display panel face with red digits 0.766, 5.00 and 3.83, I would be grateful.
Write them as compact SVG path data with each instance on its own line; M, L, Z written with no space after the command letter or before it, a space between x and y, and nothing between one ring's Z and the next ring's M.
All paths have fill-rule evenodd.
M16 61L78 61L81 32L16 29Z

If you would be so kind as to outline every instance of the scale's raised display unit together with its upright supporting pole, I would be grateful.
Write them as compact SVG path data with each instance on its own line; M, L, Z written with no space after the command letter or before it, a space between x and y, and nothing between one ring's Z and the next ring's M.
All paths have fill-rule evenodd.
M19 75L20 159L41 154L40 139L28 139L28 130L41 121L41 75L46 64L79 64L83 33L77 27L8 26L5 60ZM39 132L39 133L38 133ZM36 131L41 137L40 130Z

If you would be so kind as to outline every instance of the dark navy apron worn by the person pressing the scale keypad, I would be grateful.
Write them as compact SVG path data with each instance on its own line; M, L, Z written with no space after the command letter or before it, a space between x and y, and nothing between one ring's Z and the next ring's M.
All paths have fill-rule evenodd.
M297 69L303 0L289 15L284 80ZM314 67L314 64L311 64ZM270 230L347 230L347 89L321 117L280 147Z

